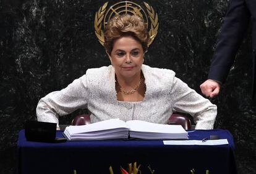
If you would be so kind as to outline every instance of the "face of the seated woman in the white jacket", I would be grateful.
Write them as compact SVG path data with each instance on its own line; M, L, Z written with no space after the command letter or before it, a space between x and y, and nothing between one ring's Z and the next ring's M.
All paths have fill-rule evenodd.
M142 44L131 36L125 36L114 41L109 59L117 76L124 78L140 75L144 52Z

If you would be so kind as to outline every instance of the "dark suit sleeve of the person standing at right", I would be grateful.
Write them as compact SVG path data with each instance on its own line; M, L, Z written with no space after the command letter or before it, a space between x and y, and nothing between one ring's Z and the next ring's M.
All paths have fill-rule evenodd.
M255 9L256 10L256 9ZM245 0L229 1L228 12L211 62L208 79L224 83L250 21Z

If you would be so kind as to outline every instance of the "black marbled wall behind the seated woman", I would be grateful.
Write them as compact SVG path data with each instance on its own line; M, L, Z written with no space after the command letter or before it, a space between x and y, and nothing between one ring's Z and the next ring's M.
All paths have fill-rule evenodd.
M105 2L0 0L0 173L15 173L19 130L25 121L36 119L41 97L66 87L88 68L109 65L94 33L95 13ZM158 13L160 27L145 64L173 69L200 93L228 1L147 2ZM113 3L109 1L109 6ZM218 106L215 127L233 133L237 167L246 174L256 173L250 34L250 30L245 33L220 96L211 100ZM62 117L60 124L70 124L76 114L85 112Z

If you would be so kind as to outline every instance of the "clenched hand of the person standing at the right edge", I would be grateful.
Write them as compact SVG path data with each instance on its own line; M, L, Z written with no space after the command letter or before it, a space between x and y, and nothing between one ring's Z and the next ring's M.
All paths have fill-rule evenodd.
M221 85L211 79L208 79L200 85L203 95L210 98L216 97L220 93L220 88Z

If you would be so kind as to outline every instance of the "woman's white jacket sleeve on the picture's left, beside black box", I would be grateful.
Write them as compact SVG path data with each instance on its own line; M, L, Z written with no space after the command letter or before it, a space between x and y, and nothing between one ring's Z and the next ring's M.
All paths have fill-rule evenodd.
M79 108L87 108L88 98L87 78L83 75L65 89L51 92L41 98L36 107L37 119L42 122L54 122L59 126L59 116L70 114Z

